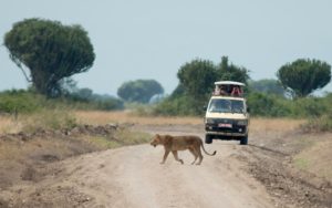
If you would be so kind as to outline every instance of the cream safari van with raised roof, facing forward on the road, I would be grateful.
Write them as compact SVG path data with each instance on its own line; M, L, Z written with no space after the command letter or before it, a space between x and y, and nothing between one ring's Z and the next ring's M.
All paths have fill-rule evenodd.
M215 82L215 91L205 114L205 143L212 139L240 141L248 144L249 108L243 97L243 83Z

